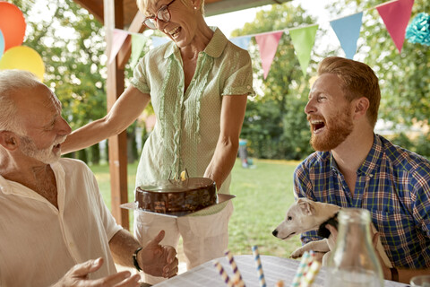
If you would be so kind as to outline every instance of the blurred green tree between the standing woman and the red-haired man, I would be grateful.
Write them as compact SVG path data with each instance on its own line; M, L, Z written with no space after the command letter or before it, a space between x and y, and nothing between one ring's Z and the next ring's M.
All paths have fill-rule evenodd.
M268 21L270 20L270 21ZM272 30L284 30L314 23L305 11L290 3L273 5L256 14L254 22L245 23L234 36L252 35ZM254 62L254 86L261 92L248 100L241 136L250 143L253 156L267 159L299 160L311 152L310 131L305 117L309 93L309 74L303 74L288 35L280 39L271 70L262 79L262 67L256 43L250 44ZM309 70L315 70L311 61ZM257 84L255 84L257 83Z

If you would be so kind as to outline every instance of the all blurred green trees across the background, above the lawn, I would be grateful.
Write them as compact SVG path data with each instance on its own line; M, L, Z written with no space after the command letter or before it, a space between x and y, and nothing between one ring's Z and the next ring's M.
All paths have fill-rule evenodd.
M429 157L430 48L405 40L399 53L379 14L375 9L369 9L383 2L386 1L338 0L326 9L331 13L331 19L366 11L355 59L373 67L380 78L383 95L380 118L385 120L386 130L391 132L386 136L394 143ZM22 9L26 18L23 45L34 48L43 58L47 68L45 83L63 102L64 117L72 128L105 116L107 57L101 23L72 0L13 0L12 3ZM428 11L430 2L415 0L412 17ZM278 4L262 9L253 22L245 23L243 29L235 30L232 36L284 30L315 22L317 20L299 5ZM265 80L253 39L249 52L254 63L254 88L258 95L248 100L241 135L248 140L251 156L301 160L312 152L303 110L309 82L323 57L344 55L340 45L324 43L326 33L323 29L317 31L307 74L302 74L289 35L284 34ZM145 43L142 55L149 49L150 39ZM127 65L125 79L130 79L131 75L132 67ZM151 109L146 112L150 114ZM143 126L144 123L138 121L127 129L130 162L138 159L137 143L147 136ZM136 133L140 129L142 135ZM412 133L414 130L417 132ZM142 141L137 138L139 136ZM97 164L100 159L107 159L107 153L100 153L99 146L96 144L70 156Z

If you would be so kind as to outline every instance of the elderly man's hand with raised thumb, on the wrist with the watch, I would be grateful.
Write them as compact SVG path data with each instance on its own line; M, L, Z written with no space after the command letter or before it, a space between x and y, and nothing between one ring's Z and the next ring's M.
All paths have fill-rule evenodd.
M175 248L159 245L164 234L164 230L159 231L157 237L142 248L138 253L138 263L146 274L170 278L177 274L178 260Z

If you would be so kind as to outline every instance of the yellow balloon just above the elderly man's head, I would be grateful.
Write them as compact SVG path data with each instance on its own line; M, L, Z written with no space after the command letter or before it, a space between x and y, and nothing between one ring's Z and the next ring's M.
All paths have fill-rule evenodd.
M30 71L43 82L45 65L34 49L26 46L9 48L0 58L0 70L18 69Z

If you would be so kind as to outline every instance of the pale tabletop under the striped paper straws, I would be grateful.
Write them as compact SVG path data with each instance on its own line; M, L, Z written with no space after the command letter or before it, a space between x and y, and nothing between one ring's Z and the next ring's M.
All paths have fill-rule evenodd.
M255 267L254 257L252 255L240 255L235 256L236 265L239 272L244 278L246 287L260 287L258 281L258 274ZM290 286L293 278L297 272L299 265L298 260L261 256L262 259L262 270L264 272L264 278L267 287L274 287L275 284L282 280L284 286ZM228 264L228 258L222 257L219 259L211 260L202 265L199 265L184 274L177 275L170 278L168 281L158 283L155 286L163 287L224 287L227 286L222 280L218 273L218 270L214 266L214 262L219 261L223 266L224 270L228 273L230 279L233 278L233 271L231 266ZM325 281L325 268L320 270L320 273L315 279L313 287L323 287ZM403 283L395 283L392 281L385 281L385 287L405 287L407 285Z

